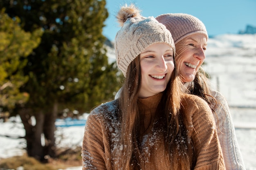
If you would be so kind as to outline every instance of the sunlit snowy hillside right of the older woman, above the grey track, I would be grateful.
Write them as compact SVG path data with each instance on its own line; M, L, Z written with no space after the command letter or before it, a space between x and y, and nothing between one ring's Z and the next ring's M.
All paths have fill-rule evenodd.
M231 106L256 108L256 34L209 39L205 63L213 88Z

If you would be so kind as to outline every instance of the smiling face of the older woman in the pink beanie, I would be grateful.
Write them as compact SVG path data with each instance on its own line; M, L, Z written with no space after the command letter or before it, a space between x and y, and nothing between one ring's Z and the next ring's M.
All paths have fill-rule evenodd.
M207 39L205 35L197 33L190 35L176 44L177 69L182 81L191 82L205 59Z

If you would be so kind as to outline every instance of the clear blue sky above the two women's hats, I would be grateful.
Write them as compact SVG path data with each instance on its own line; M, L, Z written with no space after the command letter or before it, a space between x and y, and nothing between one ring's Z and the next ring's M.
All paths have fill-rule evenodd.
M111 41L120 29L115 15L120 6L133 3L141 15L157 17L163 13L188 13L202 20L209 35L238 33L247 24L256 26L256 0L106 0L109 16L103 35Z

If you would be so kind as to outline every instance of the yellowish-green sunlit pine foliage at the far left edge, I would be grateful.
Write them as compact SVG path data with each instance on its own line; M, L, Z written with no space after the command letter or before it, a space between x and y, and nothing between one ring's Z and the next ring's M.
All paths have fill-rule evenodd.
M0 108L7 117L16 104L23 105L28 93L20 92L28 77L23 74L26 57L40 43L42 31L25 32L20 28L20 19L13 20L4 9L0 11Z

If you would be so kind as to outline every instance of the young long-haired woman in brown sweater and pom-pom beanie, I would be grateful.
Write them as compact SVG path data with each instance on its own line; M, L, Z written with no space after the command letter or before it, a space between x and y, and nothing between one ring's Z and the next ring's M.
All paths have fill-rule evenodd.
M90 113L83 170L225 170L208 104L182 93L171 33L133 5L117 14L120 96Z

